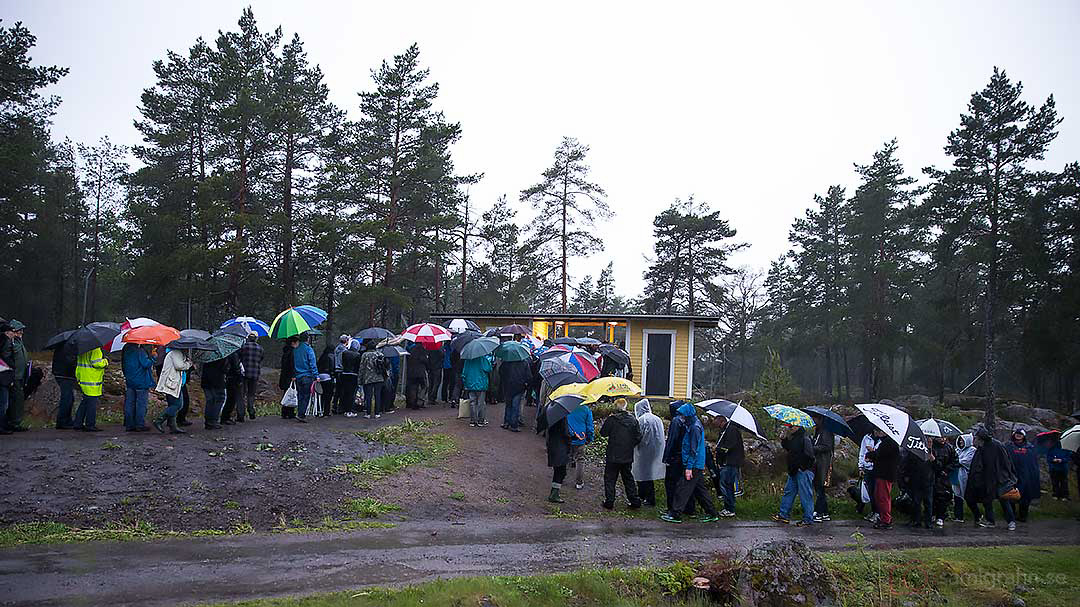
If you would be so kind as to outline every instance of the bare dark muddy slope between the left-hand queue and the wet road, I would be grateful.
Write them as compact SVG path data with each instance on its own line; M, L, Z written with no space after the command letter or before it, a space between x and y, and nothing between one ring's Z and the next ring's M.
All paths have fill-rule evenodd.
M502 406L488 407L487 428L470 428L457 410L440 404L379 420L334 416L301 424L272 415L276 391L264 382L268 415L255 422L207 431L202 428L202 393L191 390L195 423L188 434L124 432L122 379L110 367L98 410L103 432L54 430L57 390L49 379L29 402L29 432L0 437L0 525L55 521L71 526L149 522L159 530L231 529L251 525L271 529L283 521L318 524L350 517L343 503L372 497L401 511L384 521L447 521L497 515L551 513L546 497L551 470L543 440L531 430L499 428ZM267 379L273 381L273 372ZM78 403L78 401L77 401ZM148 419L163 408L151 397ZM525 417L536 415L526 408ZM454 436L456 451L443 461L419 464L388 478L357 486L349 474L330 470L407 447L356 436L408 417L429 420L430 432ZM582 491L572 487L564 512L598 510L600 470Z

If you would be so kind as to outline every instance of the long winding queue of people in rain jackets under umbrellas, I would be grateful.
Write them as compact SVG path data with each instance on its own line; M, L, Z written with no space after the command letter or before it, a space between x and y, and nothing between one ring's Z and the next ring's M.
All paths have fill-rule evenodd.
M0 326L2 434L26 430L24 402L42 378L40 369L30 365L23 342L25 329L17 320L4 321ZM571 470L575 487L583 488L586 447L597 434L593 410L582 404L549 426L544 408L552 387L540 376L537 356L522 361L499 361L492 355L462 359L449 342L434 349L420 343L401 348L388 347L381 339L341 335L336 345L327 346L316 358L309 339L308 334L291 337L282 350L279 388L285 393L283 418L299 422L307 422L312 415L377 419L395 409L401 379L405 381L407 408L421 409L440 402L451 408L460 404L469 408L473 428L488 426L487 407L503 403L502 428L519 432L525 424L523 406L538 405L536 430L545 436L548 464L553 470L548 500L565 501L562 488ZM504 335L500 339L521 340L522 336ZM551 346L550 341L543 345ZM192 424L187 419L188 383L197 364L205 397L206 430L256 418L264 349L258 336L249 333L238 350L204 363L195 363L191 350L124 345L124 429L151 429L146 414L152 391L164 396L166 406L151 426L159 432L184 433L184 427ZM108 365L102 348L82 353L71 345L54 349L52 376L59 389L56 429L100 430L96 423L97 401ZM633 377L629 365L604 359L600 366L602 376ZM76 388L82 395L77 408ZM616 412L604 419L598 431L606 439L603 508L616 507L620 481L627 508L656 507L656 483L662 481L666 495L661 516L664 521L679 523L697 509L704 513L703 522L735 516L745 462L743 437L735 423L724 416L699 416L691 403L674 401L669 405L671 423L665 429L648 399L637 401L633 412L625 397L615 399L613 403ZM706 424L717 431L715 444L706 444ZM816 423L813 434L799 426L782 426L780 439L787 477L773 520L791 523L798 499L802 516L797 525L831 521L826 485L840 439L825 423ZM1014 431L1005 443L982 427L973 434L933 437L926 458L901 449L875 429L861 437L860 478L849 487L849 495L856 510L863 513L868 509L866 520L882 530L892 528L897 509L909 513L908 526L928 529L943 527L950 513L954 523L963 523L968 512L976 525L995 527L996 511L1000 510L1008 529L1013 530L1017 522L1028 520L1030 503L1041 497L1040 454L1045 458L1053 499L1069 499L1070 464L1078 468L1080 493L1078 454L1062 448L1059 441L1037 449L1023 429ZM719 510L710 488L719 499Z

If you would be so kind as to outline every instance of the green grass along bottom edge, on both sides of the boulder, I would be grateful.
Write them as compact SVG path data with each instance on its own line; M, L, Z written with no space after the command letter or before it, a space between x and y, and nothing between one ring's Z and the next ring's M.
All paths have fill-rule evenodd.
M843 607L1008 605L1023 584L1029 606L1070 605L1080 584L1078 547L916 549L824 553ZM697 567L582 570L544 576L457 578L400 589L231 603L233 607L703 607L690 592ZM946 603L947 602L947 603ZM793 601L793 604L794 601Z

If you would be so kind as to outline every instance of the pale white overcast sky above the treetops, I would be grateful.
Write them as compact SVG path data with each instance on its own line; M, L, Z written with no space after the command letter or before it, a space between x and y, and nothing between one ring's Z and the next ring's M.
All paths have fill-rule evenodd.
M1066 120L1048 163L1080 160L1080 2L329 2L0 0L38 36L39 64L67 66L54 136L138 143L151 63L213 40L252 4L260 27L298 32L333 100L356 116L369 70L408 44L460 121L461 172L486 207L532 185L563 135L592 147L616 210L599 228L618 291L636 295L651 221L693 193L765 268L815 192L852 186L852 163L900 139L909 174L945 162L945 136L995 65L1051 93ZM407 6L406 6L407 5ZM850 191L850 190L849 190ZM525 213L529 215L528 212Z

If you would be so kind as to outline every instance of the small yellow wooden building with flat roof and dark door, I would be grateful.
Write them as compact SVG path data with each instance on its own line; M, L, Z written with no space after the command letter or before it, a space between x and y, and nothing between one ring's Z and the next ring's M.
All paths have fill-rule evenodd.
M713 316L651 314L432 314L435 322L468 319L482 329L511 324L528 327L540 339L593 337L625 342L634 380L646 396L689 399L693 377L693 332L717 325Z

